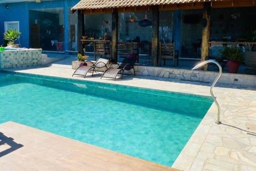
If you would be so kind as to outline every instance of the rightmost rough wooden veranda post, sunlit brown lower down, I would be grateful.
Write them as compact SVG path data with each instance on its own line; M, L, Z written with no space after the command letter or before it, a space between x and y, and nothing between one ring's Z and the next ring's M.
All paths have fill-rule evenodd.
M201 50L201 61L206 61L209 55L209 40L210 40L210 3L204 4L203 11L203 32L202 32L202 50ZM207 70L208 65L202 67L203 70Z

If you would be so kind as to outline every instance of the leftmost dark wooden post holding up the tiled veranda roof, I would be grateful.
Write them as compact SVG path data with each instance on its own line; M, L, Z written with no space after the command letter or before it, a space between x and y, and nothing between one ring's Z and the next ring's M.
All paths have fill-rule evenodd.
M77 11L77 16L78 16L78 23L77 23L77 46L78 46L78 53L84 55L83 53L83 47L84 44L82 44L81 39L82 36L84 36L84 14L82 11Z

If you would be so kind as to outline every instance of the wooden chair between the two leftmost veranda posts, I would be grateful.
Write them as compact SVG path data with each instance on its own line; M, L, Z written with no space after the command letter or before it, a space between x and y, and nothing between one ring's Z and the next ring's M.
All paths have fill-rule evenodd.
M100 58L110 58L111 47L110 43L106 41L94 41L94 60L96 61L97 55L100 55Z

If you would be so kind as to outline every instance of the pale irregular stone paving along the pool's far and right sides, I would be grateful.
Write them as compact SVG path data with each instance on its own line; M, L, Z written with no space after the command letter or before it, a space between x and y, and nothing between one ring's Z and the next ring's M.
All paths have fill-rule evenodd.
M17 71L63 78L72 78L74 72L71 66L58 64ZM72 79L210 95L210 84L206 83L143 76L125 76L114 82L99 77L100 73ZM256 88L222 83L217 86L214 93L221 106L223 124L215 124L217 107L213 104L172 167L197 171L256 170Z

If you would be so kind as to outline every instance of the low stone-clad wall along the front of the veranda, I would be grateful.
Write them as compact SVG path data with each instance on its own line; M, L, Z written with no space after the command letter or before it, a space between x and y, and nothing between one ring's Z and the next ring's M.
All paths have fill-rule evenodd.
M76 69L79 66L78 61L73 61L72 68ZM112 65L113 67L115 65ZM109 64L108 64L109 67ZM117 66L118 67L118 66ZM135 65L135 74L137 76L148 76L148 77L161 77L170 79L179 79L185 81L197 81L197 82L214 82L218 72L203 71L203 70L188 70L188 69L177 69L177 68L165 68L155 66L143 66ZM100 69L97 69L98 71ZM102 69L101 71L103 71ZM133 70L125 71L125 74L133 74ZM223 73L218 83L227 83L233 85L247 85L256 86L256 76L242 75L242 74L229 74Z

